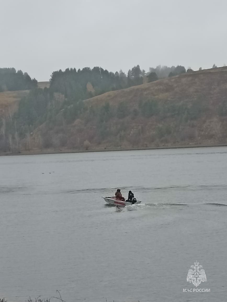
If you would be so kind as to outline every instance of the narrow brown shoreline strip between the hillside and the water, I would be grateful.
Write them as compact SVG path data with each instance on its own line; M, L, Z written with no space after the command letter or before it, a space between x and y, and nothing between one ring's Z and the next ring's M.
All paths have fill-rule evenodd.
M89 153L89 152L111 152L111 151L136 151L136 150L158 150L158 149L186 149L186 148L209 148L209 147L226 147L227 143L223 144L197 144L197 145L179 145L179 146L156 146L156 147L137 147L137 148L94 148L88 150L54 150L54 149L33 149L30 151L21 152L1 152L0 156L18 156L18 155L40 155L40 154L66 154L66 153Z

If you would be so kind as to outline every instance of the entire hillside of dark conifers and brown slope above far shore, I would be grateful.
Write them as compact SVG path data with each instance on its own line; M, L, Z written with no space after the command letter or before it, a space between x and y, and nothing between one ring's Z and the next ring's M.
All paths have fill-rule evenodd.
M0 151L227 143L227 69L168 72L164 79L139 66L127 76L100 67L53 72L49 88L31 89L14 113L2 114Z

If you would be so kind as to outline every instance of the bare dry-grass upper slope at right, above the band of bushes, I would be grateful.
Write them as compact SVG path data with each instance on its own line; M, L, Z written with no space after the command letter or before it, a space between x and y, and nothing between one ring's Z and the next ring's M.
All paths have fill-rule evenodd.
M127 102L131 108L138 101L155 98L160 101L188 101L194 99L215 98L227 88L227 67L207 69L180 76L161 79L155 82L133 86L118 91L106 92L85 102L102 105L105 102L118 104Z

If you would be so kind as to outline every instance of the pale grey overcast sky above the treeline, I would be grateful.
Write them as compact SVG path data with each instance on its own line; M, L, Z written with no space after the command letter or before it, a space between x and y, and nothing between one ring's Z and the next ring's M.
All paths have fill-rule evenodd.
M227 64L226 0L0 0L0 67L54 70Z

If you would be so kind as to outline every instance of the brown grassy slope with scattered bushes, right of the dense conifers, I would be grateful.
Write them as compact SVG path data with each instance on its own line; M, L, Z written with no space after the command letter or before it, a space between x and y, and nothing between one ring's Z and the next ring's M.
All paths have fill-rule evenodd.
M81 106L81 105L80 105ZM83 101L31 136L31 148L103 150L227 143L227 68L187 73ZM67 109L69 112L73 107Z

